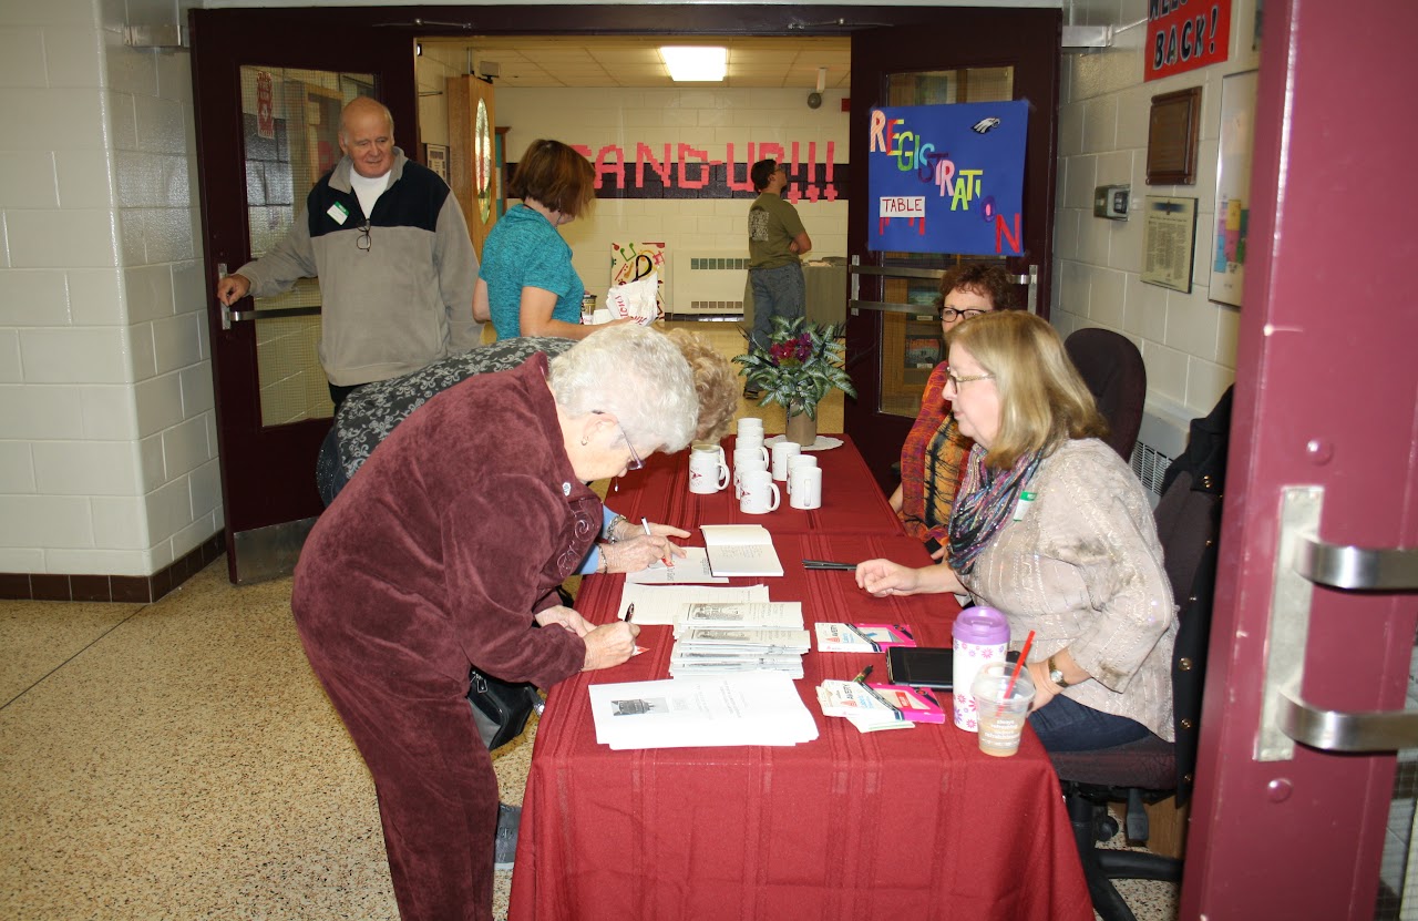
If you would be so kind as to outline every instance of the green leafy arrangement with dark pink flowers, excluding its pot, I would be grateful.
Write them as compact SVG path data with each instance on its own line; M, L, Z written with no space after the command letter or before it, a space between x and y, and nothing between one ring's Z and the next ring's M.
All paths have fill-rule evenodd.
M733 360L749 387L763 390L759 406L781 404L790 416L807 413L817 419L817 404L837 387L856 396L852 379L842 366L845 329L841 325L813 324L801 316L773 318L767 351L750 348Z

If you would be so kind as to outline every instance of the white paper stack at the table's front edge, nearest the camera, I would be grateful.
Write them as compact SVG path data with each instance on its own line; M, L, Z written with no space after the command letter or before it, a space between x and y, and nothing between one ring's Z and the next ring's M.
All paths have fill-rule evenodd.
M783 674L590 685L596 741L614 749L797 745L813 714Z

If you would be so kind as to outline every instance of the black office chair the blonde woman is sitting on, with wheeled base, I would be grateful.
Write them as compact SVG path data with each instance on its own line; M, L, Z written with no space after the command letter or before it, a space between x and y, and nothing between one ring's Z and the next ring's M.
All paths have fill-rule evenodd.
M1099 849L1096 842L1117 832L1107 816L1109 802L1127 802L1127 837L1144 842L1144 803L1176 798L1180 807L1191 796L1229 427L1227 390L1207 417L1193 420L1187 451L1167 468L1154 511L1167 578L1180 606L1171 658L1177 741L1163 742L1149 735L1129 745L1049 755L1064 788L1093 910L1103 921L1136 921L1113 880L1181 880L1180 859Z

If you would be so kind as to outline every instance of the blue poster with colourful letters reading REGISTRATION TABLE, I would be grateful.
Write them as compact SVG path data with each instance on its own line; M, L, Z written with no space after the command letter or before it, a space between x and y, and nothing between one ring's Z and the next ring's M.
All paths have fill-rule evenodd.
M866 248L1022 255L1029 104L872 109Z

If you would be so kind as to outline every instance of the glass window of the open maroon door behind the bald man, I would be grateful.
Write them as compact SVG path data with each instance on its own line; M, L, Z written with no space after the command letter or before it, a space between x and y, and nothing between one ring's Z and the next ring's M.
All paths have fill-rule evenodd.
M269 253L285 237L315 182L340 159L340 109L354 96L374 95L370 74L286 67L241 68L241 136L247 172L247 233L251 257ZM257 321L261 423L281 426L333 413L316 348L320 341L320 288L305 278L274 298L255 298L257 311L313 308L313 315Z

